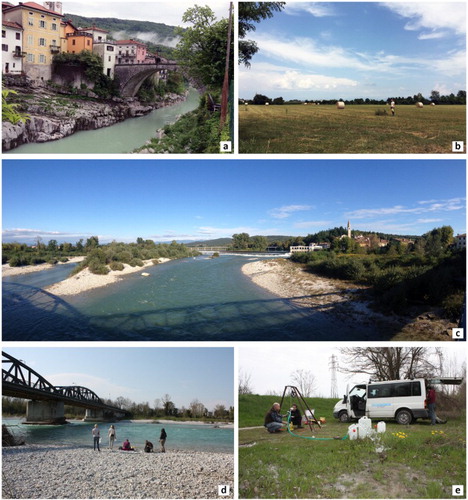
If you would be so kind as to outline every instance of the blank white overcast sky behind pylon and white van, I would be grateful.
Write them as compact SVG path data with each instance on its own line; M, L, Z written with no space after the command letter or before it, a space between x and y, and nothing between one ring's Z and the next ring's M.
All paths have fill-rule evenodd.
M349 346L346 346L349 347ZM441 347L441 346L439 346ZM442 346L444 366L457 367L456 373L445 376L461 376L463 364L466 364L466 352L460 345L448 344ZM282 395L286 385L297 385L291 374L296 370L305 370L315 377L315 397L331 397L331 356L335 355L338 367L346 366L346 359L339 348L321 342L307 344L282 342L281 345L263 342L242 344L238 347L239 373L242 377L250 377L250 387L254 394ZM241 378L242 378L241 377ZM368 375L349 375L336 373L338 397L342 397L355 384L369 380ZM272 401L273 403L273 401Z

